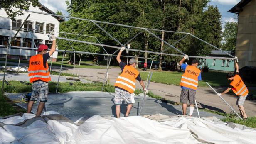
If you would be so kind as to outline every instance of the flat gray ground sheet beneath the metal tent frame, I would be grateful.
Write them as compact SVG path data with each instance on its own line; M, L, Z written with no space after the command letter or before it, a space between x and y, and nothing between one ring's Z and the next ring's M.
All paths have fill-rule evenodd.
M16 104L20 107L27 108L27 103L23 103L20 99L22 93L8 93L6 96L11 100L15 100ZM130 115L138 114L138 105L141 107L143 100L143 95L135 96L135 104L133 104L133 108L130 112ZM32 112L37 112L37 106L39 101L34 104ZM123 102L121 105L121 114L120 117L126 113L127 104ZM68 92L61 94L50 93L48 95L48 101L46 103L47 111L54 110L65 117L75 121L80 117L91 117L93 115L110 115L112 117L115 116L116 106L114 105L114 93L107 92ZM189 112L189 108L187 107L187 114ZM145 103L143 105L142 111L140 115L146 114L156 114L161 113L164 115L182 115L182 106L181 105L172 105L155 98L146 97ZM199 114L201 117L212 117L215 116L217 118L224 118L221 115L216 115L209 112L204 112L199 110ZM194 109L193 116L197 115L196 108Z

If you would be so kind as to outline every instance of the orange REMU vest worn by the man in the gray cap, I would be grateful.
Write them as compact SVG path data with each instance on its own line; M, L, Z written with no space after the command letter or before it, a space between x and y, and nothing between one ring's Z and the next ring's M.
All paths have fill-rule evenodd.
M121 75L116 79L115 87L123 88L129 93L133 93L136 87L135 81L138 75L139 71L137 71L133 66L126 65L123 68Z

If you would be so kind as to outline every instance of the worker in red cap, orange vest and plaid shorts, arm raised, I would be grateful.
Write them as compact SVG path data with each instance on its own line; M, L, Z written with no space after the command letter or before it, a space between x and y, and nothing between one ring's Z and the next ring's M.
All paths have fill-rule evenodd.
M47 53L48 46L45 44L41 44L38 46L37 55L31 56L29 68L28 68L28 76L30 78L30 83L32 84L32 92L30 101L27 104L27 113L30 113L34 104L34 101L37 101L38 97L40 103L37 108L36 117L39 117L44 108L45 102L47 102L48 98L48 82L51 80L49 74L49 68L47 59L52 56L56 49L56 38L54 35L52 38L52 47L51 50Z

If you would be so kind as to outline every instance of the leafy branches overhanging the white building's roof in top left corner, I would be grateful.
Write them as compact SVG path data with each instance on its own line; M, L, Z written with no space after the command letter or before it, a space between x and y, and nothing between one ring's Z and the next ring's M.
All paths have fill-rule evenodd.
M5 9L7 15L11 18L16 17L17 15L23 15L23 12L20 10L13 10L14 8L28 10L30 7L30 2L33 7L39 6L38 0L0 0L0 9Z

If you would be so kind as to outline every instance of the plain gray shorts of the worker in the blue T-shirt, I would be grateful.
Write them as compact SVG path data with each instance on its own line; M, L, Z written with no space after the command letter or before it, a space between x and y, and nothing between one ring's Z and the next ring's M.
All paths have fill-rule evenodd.
M196 100L196 90L192 89L181 89L180 102L187 103L189 101L190 105L194 105Z

